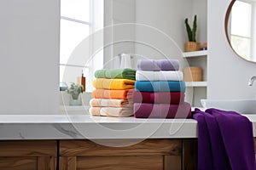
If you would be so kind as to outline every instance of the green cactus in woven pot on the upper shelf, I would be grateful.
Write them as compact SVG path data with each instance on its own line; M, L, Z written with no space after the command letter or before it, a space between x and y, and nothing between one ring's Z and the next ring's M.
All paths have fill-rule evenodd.
M188 33L189 37L189 42L185 43L185 51L198 51L200 50L200 42L196 42L195 36L196 36L196 28L197 28L197 23L196 23L196 14L194 16L194 21L193 21L193 28L189 26L189 19L185 19L185 26L186 30Z

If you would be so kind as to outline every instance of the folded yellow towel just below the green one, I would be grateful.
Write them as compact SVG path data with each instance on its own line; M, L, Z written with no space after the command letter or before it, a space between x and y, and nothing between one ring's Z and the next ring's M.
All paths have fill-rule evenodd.
M111 89L111 90L123 90L134 88L134 80L128 79L107 79L96 78L93 81L93 87L96 89Z

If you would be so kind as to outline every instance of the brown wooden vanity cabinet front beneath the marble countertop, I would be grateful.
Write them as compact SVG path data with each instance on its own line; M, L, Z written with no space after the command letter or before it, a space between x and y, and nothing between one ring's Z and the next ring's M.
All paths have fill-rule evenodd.
M193 170L195 139L89 139L0 141L2 170ZM124 147L109 147L124 145ZM132 144L131 144L132 143Z

